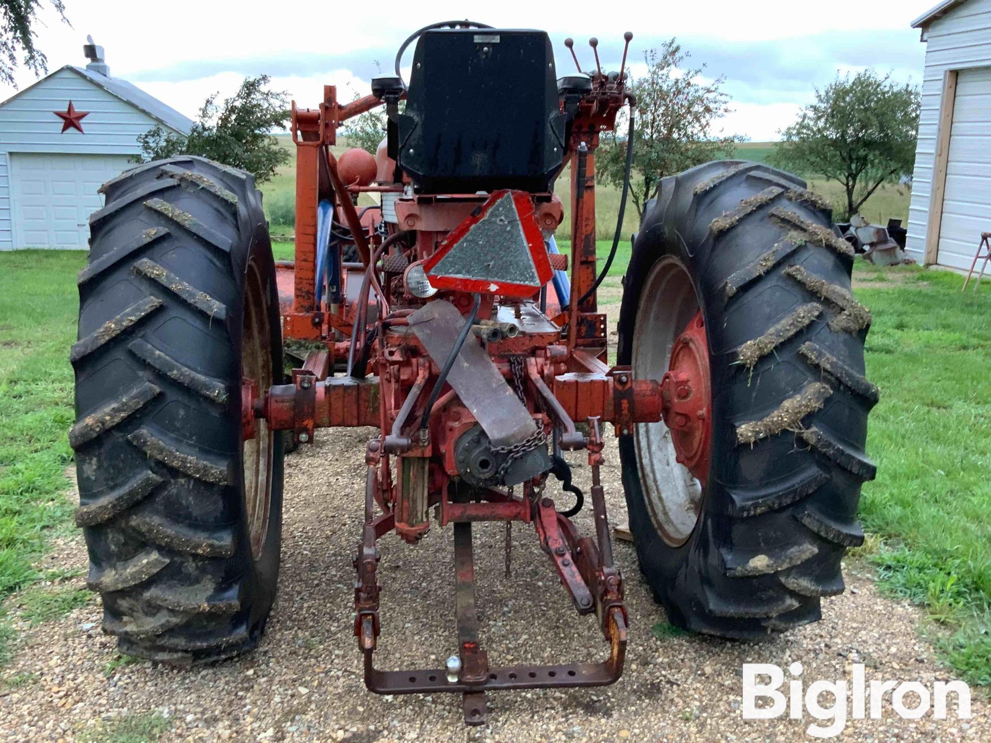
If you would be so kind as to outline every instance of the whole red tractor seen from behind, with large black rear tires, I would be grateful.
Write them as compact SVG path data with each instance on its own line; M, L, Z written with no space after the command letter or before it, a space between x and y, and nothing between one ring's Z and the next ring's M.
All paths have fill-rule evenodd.
M407 84L399 60L413 41ZM88 583L122 652L197 664L258 643L285 443L335 426L378 429L354 563L370 690L461 692L478 724L486 691L619 678L627 615L599 475L607 426L640 570L674 624L760 638L820 618L863 538L855 511L874 475L863 448L877 389L863 375L870 315L849 290L853 252L787 173L732 160L665 178L633 238L609 366L596 291L623 207L600 266L595 154L628 107L625 204L635 101L623 72L596 60L559 79L543 32L435 24L372 95L342 104L327 86L315 109L293 105L288 264L273 260L244 172L182 157L103 186L79 275L70 442ZM338 128L377 106L378 157L335 158ZM568 163L561 255L554 183ZM359 209L360 194L377 205ZM289 375L283 338L308 349ZM563 453L579 450L591 536L570 520L585 494ZM567 510L549 495L555 480ZM490 662L479 521L533 525L575 609L601 625L605 662ZM458 654L445 668L380 670L377 542L394 533L415 549L449 524Z

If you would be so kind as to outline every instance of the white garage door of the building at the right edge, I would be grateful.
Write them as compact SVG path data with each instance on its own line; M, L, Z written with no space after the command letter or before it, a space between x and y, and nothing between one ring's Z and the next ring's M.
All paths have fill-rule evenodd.
M991 231L991 67L957 74L950 132L937 261L968 268Z

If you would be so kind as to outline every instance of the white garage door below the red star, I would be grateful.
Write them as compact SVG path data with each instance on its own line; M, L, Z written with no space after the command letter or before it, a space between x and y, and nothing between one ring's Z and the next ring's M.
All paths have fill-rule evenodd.
M14 247L88 248L97 189L126 167L126 155L12 154Z

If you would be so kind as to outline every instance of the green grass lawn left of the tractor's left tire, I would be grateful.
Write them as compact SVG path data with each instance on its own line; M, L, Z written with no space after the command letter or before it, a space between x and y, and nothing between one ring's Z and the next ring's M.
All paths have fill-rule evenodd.
M85 254L0 254L0 623L3 598L39 578L48 539L72 528L64 498L72 461L72 369ZM0 645L9 631L0 627ZM0 657L4 650L0 647Z

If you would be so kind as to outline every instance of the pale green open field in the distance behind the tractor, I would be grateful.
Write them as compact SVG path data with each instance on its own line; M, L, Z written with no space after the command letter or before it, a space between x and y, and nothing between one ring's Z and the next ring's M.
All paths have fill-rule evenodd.
M262 193L265 195L265 209L272 224L274 235L291 235L293 228L293 215L295 207L295 147L288 135L276 137L279 144L284 147L290 155L288 164L280 167L275 177L267 183L261 185ZM346 150L346 146L335 148L335 152L340 154ZM771 142L745 142L736 146L735 159L752 159L757 162L765 161L774 150L774 143ZM825 181L815 177L808 178L809 187L825 196L832 204L844 203L842 186L835 181ZM556 193L565 204L565 220L558 230L561 240L566 240L570 234L571 226L568 221L567 205L571 199L571 172L566 167L556 183ZM597 185L596 188L596 218L597 237L600 240L611 240L615 232L616 217L619 213L620 190L606 185ZM363 196L361 203L366 203L367 197ZM861 213L871 222L887 224L889 218L902 219L906 222L909 218L909 201L911 191L905 186L882 186L877 193L867 200ZM367 203L371 203L368 201ZM628 240L629 236L636 232L640 223L639 215L633 206L632 199L627 200L626 214L623 219L623 229L621 237Z

